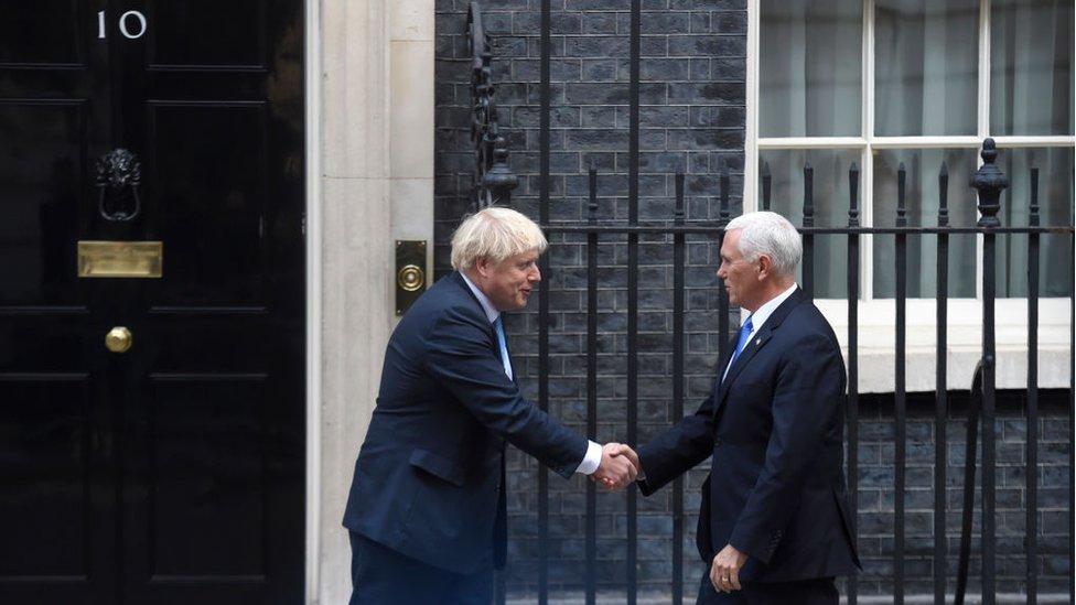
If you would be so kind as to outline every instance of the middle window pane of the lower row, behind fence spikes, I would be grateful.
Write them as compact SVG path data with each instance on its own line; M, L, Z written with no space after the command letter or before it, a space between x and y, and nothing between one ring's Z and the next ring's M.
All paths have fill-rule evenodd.
M949 170L949 225L976 224L975 196L968 180L976 171L976 149L885 149L874 154L874 226L896 225L897 170L907 170L905 207L910 227L938 225L938 172L945 161ZM976 295L976 239L973 234L949 236L949 296ZM896 238L874 236L874 298L896 295ZM907 295L937 295L938 236L907 237Z

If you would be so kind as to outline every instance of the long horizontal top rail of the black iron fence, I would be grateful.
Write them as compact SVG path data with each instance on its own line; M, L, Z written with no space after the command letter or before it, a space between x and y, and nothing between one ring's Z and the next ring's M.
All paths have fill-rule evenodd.
M541 225L541 229L547 234L703 234L713 235L721 230L723 226L717 223L695 223L690 225L677 226L668 223L649 223L646 225L566 225L553 223ZM980 227L799 227L797 230L804 234L814 235L975 235L983 234ZM1051 234L1051 235L1072 235L1074 228L1066 226L1041 226L1041 227L998 227L990 229L993 234Z

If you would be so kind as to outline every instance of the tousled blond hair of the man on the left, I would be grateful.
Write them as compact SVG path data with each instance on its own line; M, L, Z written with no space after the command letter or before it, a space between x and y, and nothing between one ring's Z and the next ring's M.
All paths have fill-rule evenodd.
M452 268L465 271L483 257L501 263L523 252L545 252L547 246L534 220L512 208L492 206L464 218L452 234Z

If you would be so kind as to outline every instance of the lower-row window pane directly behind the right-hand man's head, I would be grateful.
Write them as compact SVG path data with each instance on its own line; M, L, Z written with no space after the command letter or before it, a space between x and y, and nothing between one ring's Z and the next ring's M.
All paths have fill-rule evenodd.
M859 150L774 150L760 154L761 166L770 164L773 179L772 210L788 218L793 225L804 224L804 164L815 169L815 226L843 227L848 225L848 169L858 162ZM761 169L760 174L765 170ZM862 199L862 192L860 192ZM862 203L861 203L862 204ZM763 207L760 201L760 209ZM862 208L862 205L860 206ZM861 210L862 216L862 210ZM848 298L848 236L815 236L815 298ZM803 271L796 277L803 283Z

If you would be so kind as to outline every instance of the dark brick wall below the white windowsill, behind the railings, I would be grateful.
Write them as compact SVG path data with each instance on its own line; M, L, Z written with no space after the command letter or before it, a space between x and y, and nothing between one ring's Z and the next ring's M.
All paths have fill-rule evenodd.
M946 537L950 579L956 577L956 553L960 544L964 498L964 463L967 435L968 392L950 392L947 423ZM997 431L997 534L998 590L1024 591L1026 555L1024 519L1026 506L1025 393L999 391ZM1039 543L1040 592L1067 592L1072 583L1068 555L1070 540L1068 391L1043 391L1039 421ZM860 413L859 548L864 570L859 576L860 594L890 594L893 575L894 436L893 397L864 398ZM907 472L905 491L905 591L930 594L934 561L934 393L908 398ZM981 456L982 435L979 444ZM981 474L976 475L977 512L969 592L978 591L980 568ZM949 591L955 582L950 581Z

